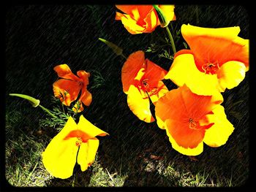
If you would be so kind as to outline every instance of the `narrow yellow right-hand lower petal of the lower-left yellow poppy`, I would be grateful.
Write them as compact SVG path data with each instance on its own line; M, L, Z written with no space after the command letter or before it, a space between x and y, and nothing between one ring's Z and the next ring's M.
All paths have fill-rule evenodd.
M78 164L80 164L82 172L86 171L86 169L93 164L98 147L99 140L97 138L89 139L88 142L83 142L80 145Z

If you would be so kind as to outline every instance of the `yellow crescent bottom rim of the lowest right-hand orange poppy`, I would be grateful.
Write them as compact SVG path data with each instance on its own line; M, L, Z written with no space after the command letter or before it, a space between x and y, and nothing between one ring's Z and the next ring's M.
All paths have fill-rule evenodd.
M170 120L166 120L166 125L168 125L168 123ZM183 154L183 155L199 155L200 153L203 152L203 142L200 142L197 147L195 148L184 148L179 146L176 141L173 139L173 137L170 135L169 131L167 131L166 129L166 134L169 137L169 141L172 144L173 149L177 150L179 153Z

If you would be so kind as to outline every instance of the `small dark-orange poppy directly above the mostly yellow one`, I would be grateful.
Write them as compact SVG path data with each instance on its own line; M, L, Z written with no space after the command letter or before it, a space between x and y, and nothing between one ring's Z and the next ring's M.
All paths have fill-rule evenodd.
M80 112L83 111L83 104L86 106L91 104L91 93L87 90L90 77L89 72L80 70L77 72L78 76L76 76L71 72L67 64L55 66L54 71L56 71L58 76L63 79L53 83L53 93L64 105L70 106L72 101L75 101L78 98L80 91L80 99L75 104L73 110Z

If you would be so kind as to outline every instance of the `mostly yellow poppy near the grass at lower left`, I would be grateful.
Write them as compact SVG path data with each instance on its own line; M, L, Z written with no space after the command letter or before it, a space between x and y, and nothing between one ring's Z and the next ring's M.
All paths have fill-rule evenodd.
M69 117L64 128L42 153L45 169L54 177L66 179L72 176L78 162L84 172L94 162L99 147L96 136L105 135L108 133L91 124L83 115L80 115L78 124Z

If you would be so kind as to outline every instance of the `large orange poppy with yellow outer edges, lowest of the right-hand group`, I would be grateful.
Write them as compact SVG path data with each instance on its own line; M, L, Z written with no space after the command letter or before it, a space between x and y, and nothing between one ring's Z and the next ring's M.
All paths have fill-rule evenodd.
M157 101L157 125L166 130L173 148L179 153L199 155L203 152L203 142L219 147L233 132L233 125L220 105L222 101L221 94L199 96L183 85Z

